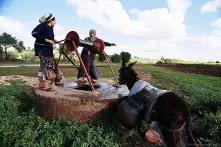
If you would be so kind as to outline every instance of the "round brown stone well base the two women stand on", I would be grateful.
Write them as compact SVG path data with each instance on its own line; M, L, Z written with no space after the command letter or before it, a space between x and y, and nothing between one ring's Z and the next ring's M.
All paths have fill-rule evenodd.
M40 115L47 120L74 118L81 123L93 118L111 118L122 98L129 94L126 85L112 86L108 83L98 83L96 92L57 86L54 90L34 89Z

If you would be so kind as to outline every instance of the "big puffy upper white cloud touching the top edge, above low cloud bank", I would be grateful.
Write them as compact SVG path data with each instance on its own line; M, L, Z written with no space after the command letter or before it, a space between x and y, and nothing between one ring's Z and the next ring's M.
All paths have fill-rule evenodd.
M190 0L176 0L178 8L168 1L168 8L140 11L133 9L127 13L119 0L67 0L75 7L79 17L105 27L119 34L156 40L178 40L186 33L184 14L191 5Z

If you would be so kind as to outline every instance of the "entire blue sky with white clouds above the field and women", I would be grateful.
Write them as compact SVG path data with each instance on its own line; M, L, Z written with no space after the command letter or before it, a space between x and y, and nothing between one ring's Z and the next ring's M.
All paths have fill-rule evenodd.
M108 54L221 60L221 0L0 0L0 33L33 47L30 33L48 12L57 40L73 30L83 39L94 28L117 44Z

